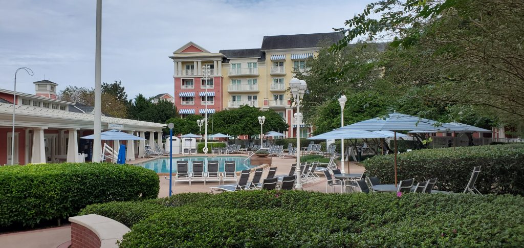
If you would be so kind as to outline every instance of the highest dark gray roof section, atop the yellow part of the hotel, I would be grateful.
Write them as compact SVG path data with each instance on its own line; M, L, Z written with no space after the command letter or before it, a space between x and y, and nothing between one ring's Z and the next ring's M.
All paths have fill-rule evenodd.
M320 42L337 42L344 37L341 32L307 33L304 35L279 35L264 36L262 50L290 49L290 48L315 48Z

